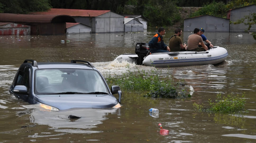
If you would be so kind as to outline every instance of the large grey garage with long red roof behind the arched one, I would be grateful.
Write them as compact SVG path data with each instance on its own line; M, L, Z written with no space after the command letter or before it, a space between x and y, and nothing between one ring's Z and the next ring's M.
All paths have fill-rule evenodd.
M92 27L92 33L124 31L124 16L109 10L51 8L46 12L33 12L32 14L68 15L73 17L77 23Z

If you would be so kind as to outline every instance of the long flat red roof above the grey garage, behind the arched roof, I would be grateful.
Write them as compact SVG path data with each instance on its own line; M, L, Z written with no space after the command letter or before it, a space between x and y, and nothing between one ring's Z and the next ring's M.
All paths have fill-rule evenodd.
M69 16L82 16L82 17L97 17L104 13L110 12L110 10L85 10L85 9L62 9L62 8L51 8L46 12L33 12L31 14L58 14L58 15L69 15Z

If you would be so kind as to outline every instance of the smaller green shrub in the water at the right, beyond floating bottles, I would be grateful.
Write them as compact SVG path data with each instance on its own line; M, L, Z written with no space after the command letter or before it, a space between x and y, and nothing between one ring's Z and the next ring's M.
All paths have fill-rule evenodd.
M242 94L240 98L239 95L234 96L232 94L228 94L227 96L221 96L221 94L217 94L216 103L212 101L212 99L208 99L208 103L210 104L210 108L203 109L203 105L199 105L194 103L193 107L197 111L208 111L213 113L238 113L241 110L244 110L245 106L245 95Z

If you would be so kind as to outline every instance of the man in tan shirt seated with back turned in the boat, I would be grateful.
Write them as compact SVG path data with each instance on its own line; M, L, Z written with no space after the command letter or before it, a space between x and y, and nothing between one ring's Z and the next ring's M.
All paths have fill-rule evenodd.
M202 47L198 47L198 43L200 43ZM204 44L203 39L200 36L200 30L198 28L194 29L194 34L189 35L187 50L196 52L208 50L208 47Z

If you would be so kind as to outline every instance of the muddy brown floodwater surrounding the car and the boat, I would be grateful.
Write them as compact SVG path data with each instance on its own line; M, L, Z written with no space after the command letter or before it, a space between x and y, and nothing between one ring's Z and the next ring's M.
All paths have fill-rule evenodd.
M256 142L256 40L248 33L205 33L214 44L225 47L224 63L202 66L157 68L162 76L183 81L187 99L148 99L144 91L123 91L122 107L114 109L72 109L43 111L18 100L8 88L25 59L38 62L92 62L102 74L120 74L127 63L113 60L134 53L136 42L148 42L155 32L111 33L60 36L0 37L0 142ZM164 41L173 34L167 31ZM191 32L183 32L187 42ZM239 37L237 35L243 35ZM61 43L65 40L65 43ZM70 40L66 42L66 40ZM152 70L130 63L132 70ZM122 87L121 87L122 88ZM245 109L240 114L197 113L193 103L207 104L218 93L245 93ZM116 96L117 97L117 96ZM118 98L118 97L117 97ZM159 109L159 117L148 109ZM68 115L81 118L70 121ZM161 123L169 134L159 134Z

